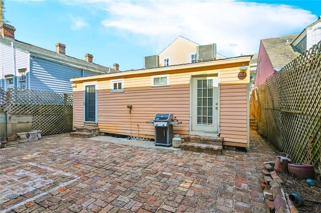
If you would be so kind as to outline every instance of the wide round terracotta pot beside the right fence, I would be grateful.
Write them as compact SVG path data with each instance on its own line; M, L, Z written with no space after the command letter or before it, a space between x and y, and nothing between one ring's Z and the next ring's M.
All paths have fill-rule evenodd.
M299 179L314 179L314 167L311 164L288 163L287 169L292 176L295 176Z

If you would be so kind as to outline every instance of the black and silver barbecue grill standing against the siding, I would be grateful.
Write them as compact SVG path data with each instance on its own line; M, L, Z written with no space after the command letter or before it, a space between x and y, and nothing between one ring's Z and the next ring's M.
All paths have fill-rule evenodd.
M172 113L155 114L153 120L148 120L146 123L152 123L155 127L155 145L172 145L173 124L181 124L181 121L174 121Z

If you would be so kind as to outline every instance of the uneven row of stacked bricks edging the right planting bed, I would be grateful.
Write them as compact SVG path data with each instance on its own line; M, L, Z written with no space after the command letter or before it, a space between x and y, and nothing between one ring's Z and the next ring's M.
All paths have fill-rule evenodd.
M273 213L298 213L288 194L284 192L283 181L274 170L273 163L270 161L261 164L260 183L267 210Z

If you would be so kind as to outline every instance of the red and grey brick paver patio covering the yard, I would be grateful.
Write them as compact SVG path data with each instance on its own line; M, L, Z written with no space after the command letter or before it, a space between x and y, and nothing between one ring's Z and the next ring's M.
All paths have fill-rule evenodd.
M0 212L266 212L255 131L223 155L144 148L69 134L0 149Z

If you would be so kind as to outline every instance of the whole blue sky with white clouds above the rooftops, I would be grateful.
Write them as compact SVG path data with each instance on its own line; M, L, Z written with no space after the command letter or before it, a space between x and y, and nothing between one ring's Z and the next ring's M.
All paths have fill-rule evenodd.
M321 0L5 0L17 40L120 70L140 69L179 35L217 44L227 57L258 52L260 39L299 33Z

